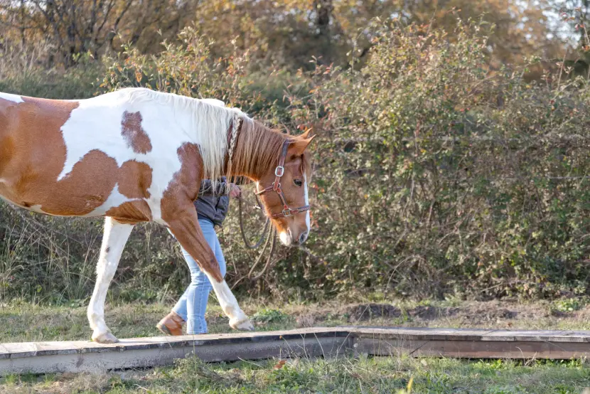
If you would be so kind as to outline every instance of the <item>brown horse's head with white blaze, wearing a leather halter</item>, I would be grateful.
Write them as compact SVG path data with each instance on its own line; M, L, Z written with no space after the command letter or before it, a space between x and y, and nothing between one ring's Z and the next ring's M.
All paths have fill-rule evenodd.
M312 139L306 133L287 140L278 166L269 169L257 185L267 215L286 246L301 245L311 230L307 189L311 166L306 149Z

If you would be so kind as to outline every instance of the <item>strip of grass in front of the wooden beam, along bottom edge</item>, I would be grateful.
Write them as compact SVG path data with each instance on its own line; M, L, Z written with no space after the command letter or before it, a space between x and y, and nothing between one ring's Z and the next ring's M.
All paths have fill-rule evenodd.
M280 367L280 368L279 368ZM3 393L582 393L590 369L581 361L530 362L341 358L176 366L104 375L9 376Z

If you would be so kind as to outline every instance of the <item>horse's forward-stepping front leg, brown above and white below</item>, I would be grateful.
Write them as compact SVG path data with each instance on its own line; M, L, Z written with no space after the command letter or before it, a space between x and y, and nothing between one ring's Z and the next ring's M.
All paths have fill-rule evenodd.
M195 259L200 269L209 278L221 309L230 318L232 329L253 330L254 326L250 323L250 319L240 309L230 287L221 276L215 254L198 225L197 212L193 203L189 202L183 209L176 211L173 220L169 220L167 224L176 240Z

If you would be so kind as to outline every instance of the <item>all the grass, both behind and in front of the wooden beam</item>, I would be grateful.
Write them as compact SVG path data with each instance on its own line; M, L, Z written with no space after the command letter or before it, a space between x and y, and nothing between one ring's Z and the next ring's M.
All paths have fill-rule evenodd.
M570 302L568 302L570 303ZM569 304L568 304L569 305ZM370 304L245 303L259 330L339 324L589 329L590 308L516 302L389 302ZM572 309L572 310L570 310ZM109 304L107 324L120 337L154 336L169 306ZM219 307L210 304L211 332L229 332ZM85 307L10 302L0 309L0 341L88 339ZM462 361L405 356L293 359L176 366L100 375L8 376L0 393L582 393L590 366L574 361ZM587 393L590 393L587 392Z

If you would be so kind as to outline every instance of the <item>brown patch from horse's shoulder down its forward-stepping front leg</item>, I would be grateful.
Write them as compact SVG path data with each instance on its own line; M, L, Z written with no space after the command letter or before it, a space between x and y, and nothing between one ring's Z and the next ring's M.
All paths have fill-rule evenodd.
M162 219L199 267L216 281L222 282L219 263L198 226L197 211L193 205L203 174L203 159L196 144L183 144L178 148L177 154L181 161L181 169L174 174L173 180L163 193Z

